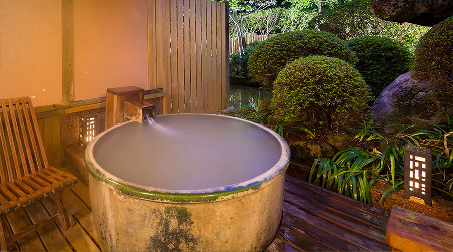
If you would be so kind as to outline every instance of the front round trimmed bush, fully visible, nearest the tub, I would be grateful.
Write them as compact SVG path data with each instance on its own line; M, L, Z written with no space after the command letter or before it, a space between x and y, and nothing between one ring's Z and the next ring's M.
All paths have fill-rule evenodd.
M288 63L274 82L277 118L312 129L340 129L367 108L369 88L346 61L309 56Z

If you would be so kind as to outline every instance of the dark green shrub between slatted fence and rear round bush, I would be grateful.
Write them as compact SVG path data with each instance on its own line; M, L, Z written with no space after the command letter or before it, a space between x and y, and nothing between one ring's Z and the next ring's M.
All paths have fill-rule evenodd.
M247 71L247 65L249 61L250 53L255 47L261 43L261 41L255 41L250 43L244 48L243 56L238 53L230 53L230 83L237 85L248 85L248 86L259 86L258 83L252 80L249 71Z

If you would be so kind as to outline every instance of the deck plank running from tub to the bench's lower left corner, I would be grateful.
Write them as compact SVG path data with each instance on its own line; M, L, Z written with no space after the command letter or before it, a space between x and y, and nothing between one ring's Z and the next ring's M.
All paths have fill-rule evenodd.
M304 220L318 228L321 228L329 233L338 236L339 239L347 240L357 246L365 248L369 251L388 251L390 247L385 243L375 241L369 237L336 225L328 220L318 217L304 209L301 209L289 202L284 202L283 211L298 219Z

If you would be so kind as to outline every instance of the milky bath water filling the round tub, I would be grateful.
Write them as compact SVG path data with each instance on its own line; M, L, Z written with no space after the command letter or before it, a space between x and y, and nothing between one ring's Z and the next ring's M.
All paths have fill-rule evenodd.
M281 146L256 125L229 117L179 114L153 125L131 122L95 145L112 175L166 190L202 190L245 182L272 168Z

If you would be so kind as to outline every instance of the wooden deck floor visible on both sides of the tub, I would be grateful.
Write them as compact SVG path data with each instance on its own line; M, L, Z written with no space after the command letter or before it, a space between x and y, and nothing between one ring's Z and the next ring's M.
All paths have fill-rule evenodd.
M65 168L62 170L68 172ZM390 250L382 230L387 224L384 212L366 204L357 204L350 198L344 203L341 195L325 192L323 188L293 178L287 179L285 188L282 226L266 251ZM9 244L8 248L22 251L100 251L88 187L82 183L72 186L66 201L72 208L75 227L61 232L59 225L50 224L17 243ZM28 218L34 223L55 214L56 208L51 200L44 199L42 203L27 206L25 211L15 211L18 216L7 215L11 221L15 220L13 225L16 229L30 226ZM367 217L370 219L365 219ZM8 227L10 219L4 221L4 226ZM5 230L8 233L7 228ZM51 240L52 237L54 240Z

